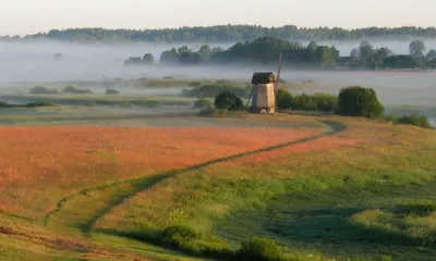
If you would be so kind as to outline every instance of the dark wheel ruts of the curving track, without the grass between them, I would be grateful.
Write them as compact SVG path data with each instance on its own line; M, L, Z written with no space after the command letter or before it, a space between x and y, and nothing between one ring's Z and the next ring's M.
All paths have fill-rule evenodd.
M339 134L343 130L347 129L347 126L335 122L335 121L320 121L320 123L323 123L324 125L328 126L331 130L329 132L324 132L322 134L318 135L314 135L311 137L306 137L306 138L302 138L299 140L293 140L293 141L288 141L288 142L283 142L283 144L279 144L279 145L275 145L275 146L270 146L270 147L265 147L265 148L261 148L261 149L256 149L256 150L251 150L251 151L245 151L245 152L241 152L241 153L237 153L237 154L232 154L232 156L228 156L228 157L223 157L223 158L219 158L219 159L215 159L215 160L210 160L210 161L206 161L196 165L192 165L185 169L181 169L181 170L174 170L174 171L169 171L169 172L165 172L165 173L160 173L154 176L147 176L147 177L140 177L140 178L133 178L133 179L128 179L128 181L123 181L123 182L118 182L118 183L112 183L112 184L107 184L107 185L102 185L102 186L97 186L97 187L93 187L93 188L87 188L84 190L81 190L76 194L70 195L68 197L62 198L61 200L58 201L57 203L57 208L55 210L52 210L51 212L47 213L45 215L44 219L44 223L45 225L49 225L49 222L56 217L57 214L61 213L62 210L64 209L65 204L68 204L71 200L73 200L74 198L78 197L78 196L86 196L88 192L90 191L95 191L95 190L105 190L105 189L110 189L110 188L117 188L118 186L121 185L130 185L131 188L128 189L125 192L114 192L116 198L112 200L108 200L108 206L105 208L100 208L98 210L95 211L95 213L93 213L92 216L89 216L89 219L82 225L77 225L75 227L72 228L78 228L80 231L82 231L85 235L89 236L95 223L104 215L106 215L107 213L109 213L110 211L112 211L117 206L123 203L125 200L132 198L133 196L137 195L141 191L144 191L146 189L149 189L150 187L155 186L156 184L170 178L172 176L175 175L180 175L186 172L191 172L191 171L197 171L201 170L205 166L208 165L213 165L216 163L220 163L220 162L226 162L229 160L233 160L233 159L238 159L238 158L242 158L242 157L246 157L246 156L251 156L251 154L255 154L255 153L259 153L259 152L267 152L267 151L272 151L276 149L280 149L280 148L284 148L284 147L289 147L289 146L293 146L293 145L299 145L299 144L304 144L307 141L312 141L312 140L316 140L323 137L327 137L327 136L331 136L331 135L336 135Z

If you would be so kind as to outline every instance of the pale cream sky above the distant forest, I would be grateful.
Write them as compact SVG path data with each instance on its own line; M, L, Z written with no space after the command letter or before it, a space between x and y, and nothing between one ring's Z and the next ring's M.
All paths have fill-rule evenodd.
M436 26L436 0L1 0L0 35L71 27Z

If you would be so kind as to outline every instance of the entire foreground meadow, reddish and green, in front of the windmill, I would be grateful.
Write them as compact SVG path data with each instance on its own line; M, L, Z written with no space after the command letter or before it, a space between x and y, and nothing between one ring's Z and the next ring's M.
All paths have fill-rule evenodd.
M280 260L436 254L434 130L4 110L3 125L41 126L0 127L3 260L242 260L255 237L274 239Z

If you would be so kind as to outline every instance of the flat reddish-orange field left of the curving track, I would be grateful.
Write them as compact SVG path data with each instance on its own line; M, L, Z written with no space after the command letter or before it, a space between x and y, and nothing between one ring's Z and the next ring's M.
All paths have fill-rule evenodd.
M295 140L320 129L0 127L0 209L38 216L83 188Z

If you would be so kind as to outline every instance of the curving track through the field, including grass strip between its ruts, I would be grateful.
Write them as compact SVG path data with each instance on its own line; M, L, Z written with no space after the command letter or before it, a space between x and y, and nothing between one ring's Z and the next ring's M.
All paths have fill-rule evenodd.
M147 176L135 179L128 179L120 183L84 189L75 195L71 195L59 200L57 208L46 214L45 224L47 226L60 229L78 229L80 232L84 233L85 236L89 236L89 232L93 229L94 224L101 216L110 212L117 206L121 204L124 200L153 187L154 185L165 181L166 178L199 170L211 164L312 141L322 137L338 134L347 129L347 126L337 122L322 121L322 123L327 125L330 130L299 140L219 158L182 170L160 173L152 177Z

